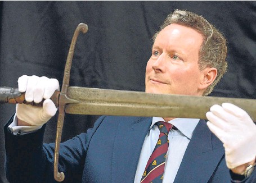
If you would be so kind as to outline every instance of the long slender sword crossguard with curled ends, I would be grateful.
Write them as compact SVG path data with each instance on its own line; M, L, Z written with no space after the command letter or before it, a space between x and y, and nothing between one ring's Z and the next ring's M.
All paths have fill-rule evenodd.
M54 179L59 182L63 181L65 178L64 173L58 171L61 133L62 133L64 117L65 117L65 105L67 103L77 103L76 100L70 99L66 95L66 93L68 92L70 70L71 70L71 64L74 56L75 44L77 43L77 38L80 31L82 31L82 33L85 34L88 31L88 26L84 23L80 23L77 26L77 29L75 29L75 32L70 44L68 57L66 60L64 76L62 81L62 88L61 88L60 97L59 97L59 116L57 120L57 131L56 131L55 153L54 153Z

